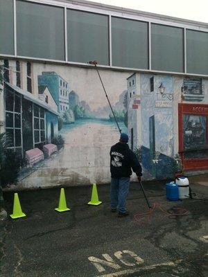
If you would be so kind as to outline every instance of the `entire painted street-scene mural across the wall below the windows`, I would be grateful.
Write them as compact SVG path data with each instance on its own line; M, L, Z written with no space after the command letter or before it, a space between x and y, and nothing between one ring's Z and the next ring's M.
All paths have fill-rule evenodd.
M109 183L110 146L119 141L119 131L94 67L15 60L1 60L0 66L1 185L24 189ZM179 151L177 123L178 103L206 103L206 80L200 89L200 80L193 78L100 72L144 179L173 177L184 169L184 159L206 163L207 105L198 103L198 111L204 107L207 114L182 116L184 152Z

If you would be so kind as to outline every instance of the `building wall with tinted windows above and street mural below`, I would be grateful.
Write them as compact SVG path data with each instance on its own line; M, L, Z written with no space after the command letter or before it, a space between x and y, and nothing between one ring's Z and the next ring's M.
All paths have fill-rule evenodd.
M83 0L0 0L0 37L7 147L24 157L58 145L38 170L19 169L19 188L110 182L119 131L94 60L144 179L207 172L208 24Z

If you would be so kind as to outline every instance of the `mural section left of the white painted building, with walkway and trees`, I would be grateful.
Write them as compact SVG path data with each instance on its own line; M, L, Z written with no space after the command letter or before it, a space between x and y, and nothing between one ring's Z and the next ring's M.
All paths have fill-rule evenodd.
M107 183L110 146L119 140L119 131L95 69L21 62L19 71L26 75L19 76L16 65L10 61L3 72L5 124L1 132L6 133L7 155L12 153L3 168L3 185L42 188ZM127 132L127 76L123 73L121 82L119 75L103 71L123 132ZM15 184L9 178L12 163L18 165Z

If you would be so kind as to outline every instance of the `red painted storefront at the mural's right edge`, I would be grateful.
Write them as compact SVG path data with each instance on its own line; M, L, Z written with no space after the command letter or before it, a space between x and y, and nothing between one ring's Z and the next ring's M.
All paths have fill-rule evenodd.
M208 105L179 104L178 128L184 170L207 170Z

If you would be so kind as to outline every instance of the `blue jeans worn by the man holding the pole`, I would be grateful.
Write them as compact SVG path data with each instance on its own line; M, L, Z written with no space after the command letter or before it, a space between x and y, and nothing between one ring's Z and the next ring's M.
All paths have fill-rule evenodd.
M128 196L129 184L129 177L111 179L110 206L111 208L117 208L118 206L120 213L126 213L125 202Z

